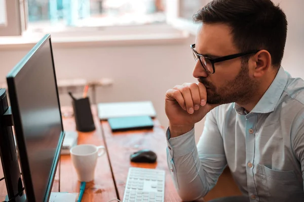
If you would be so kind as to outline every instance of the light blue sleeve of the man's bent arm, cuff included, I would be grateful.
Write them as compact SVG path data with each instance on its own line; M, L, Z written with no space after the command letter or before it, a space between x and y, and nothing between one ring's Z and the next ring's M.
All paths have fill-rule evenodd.
M216 184L226 166L223 139L216 120L215 109L206 116L198 145L194 128L178 137L167 135L167 163L175 188L183 201L205 196Z

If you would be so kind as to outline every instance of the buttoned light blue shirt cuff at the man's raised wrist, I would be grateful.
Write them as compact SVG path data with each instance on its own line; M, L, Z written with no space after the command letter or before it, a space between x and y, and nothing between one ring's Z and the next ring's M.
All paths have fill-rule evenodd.
M170 129L168 128L166 136L169 154L172 158L182 157L193 151L196 147L194 128L185 134L172 138L170 138Z

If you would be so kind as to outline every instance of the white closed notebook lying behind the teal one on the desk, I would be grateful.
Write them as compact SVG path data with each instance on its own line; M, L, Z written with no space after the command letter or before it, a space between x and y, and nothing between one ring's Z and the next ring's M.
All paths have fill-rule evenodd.
M98 117L100 120L129 116L149 116L154 118L156 117L156 112L150 101L98 104Z

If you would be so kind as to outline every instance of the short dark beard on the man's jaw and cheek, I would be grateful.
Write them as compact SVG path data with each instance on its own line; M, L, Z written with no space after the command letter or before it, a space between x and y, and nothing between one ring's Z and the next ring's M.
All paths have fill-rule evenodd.
M209 104L246 104L258 88L258 83L249 77L248 62L242 62L241 70L233 81L227 81L224 86L216 87L207 77L199 77L207 90L207 103Z

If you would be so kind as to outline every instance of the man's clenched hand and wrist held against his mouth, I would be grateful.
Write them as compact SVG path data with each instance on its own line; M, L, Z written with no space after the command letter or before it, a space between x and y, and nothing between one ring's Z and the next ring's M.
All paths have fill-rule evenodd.
M167 90L165 112L169 119L170 137L190 131L194 124L218 105L206 103L207 92L202 83L184 83Z

